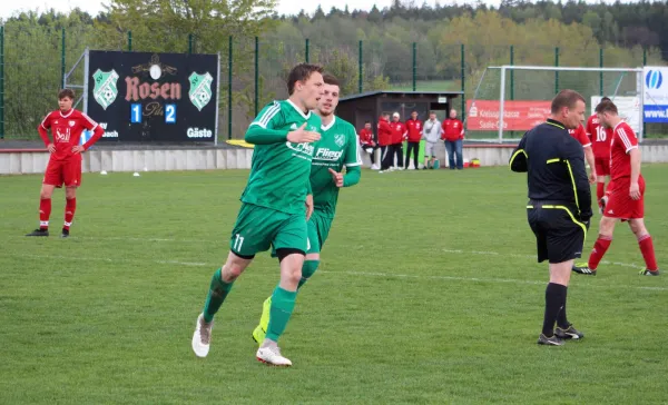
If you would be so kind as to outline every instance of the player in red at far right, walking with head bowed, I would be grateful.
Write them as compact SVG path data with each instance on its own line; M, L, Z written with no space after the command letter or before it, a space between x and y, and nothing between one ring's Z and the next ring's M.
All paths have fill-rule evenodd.
M612 101L602 101L596 113L603 127L612 128L610 142L610 177L608 204L599 226L599 236L586 266L574 266L573 271L596 275L599 263L612 243L612 233L618 219L629 221L631 231L645 259L644 276L658 276L659 266L655 256L651 236L645 227L645 179L640 175L640 149L638 139L628 124L621 120Z

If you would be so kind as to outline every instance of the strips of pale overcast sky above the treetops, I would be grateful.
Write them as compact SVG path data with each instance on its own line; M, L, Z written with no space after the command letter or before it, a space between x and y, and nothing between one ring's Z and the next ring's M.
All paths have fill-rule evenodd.
M343 8L348 4L351 10L362 9L370 10L373 4L376 4L380 9L389 7L392 0L320 0L320 1L303 1L303 0L278 0L278 13L281 14L297 14L301 9L304 9L307 13L313 13L320 3L323 10L328 11L332 6ZM474 2L473 0L460 0L459 3ZM483 0L490 6L499 6L501 0ZM591 0L588 0L588 2ZM593 0L596 1L596 0ZM591 2L593 2L591 1ZM605 0L605 2L612 2L613 0ZM0 0L0 17L7 18L21 10L35 10L40 11L53 8L58 11L69 11L73 8L80 8L81 10L88 11L89 13L97 16L102 10L102 3L105 0L20 0L17 3L9 0ZM435 0L426 0L428 3L434 4ZM422 0L415 0L416 4L422 4ZM449 1L441 1L441 4L448 4ZM20 4L20 6L18 6Z

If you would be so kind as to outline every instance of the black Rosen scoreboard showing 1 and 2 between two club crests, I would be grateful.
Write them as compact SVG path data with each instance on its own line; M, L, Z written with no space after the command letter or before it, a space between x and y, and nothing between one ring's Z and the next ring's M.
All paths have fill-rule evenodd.
M102 141L214 141L218 56L89 51L88 115Z

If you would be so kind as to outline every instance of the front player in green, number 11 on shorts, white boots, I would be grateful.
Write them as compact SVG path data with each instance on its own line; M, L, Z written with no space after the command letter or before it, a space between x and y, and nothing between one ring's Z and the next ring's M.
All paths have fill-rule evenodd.
M256 357L269 365L292 365L281 354L277 342L295 306L308 245L306 216L313 209L313 204L307 202L312 142L321 138L321 118L311 110L323 96L322 68L297 65L289 72L287 88L289 98L266 106L245 136L248 144L255 145L250 175L242 194L227 261L214 273L204 310L197 317L193 350L198 357L206 357L209 352L214 315L236 278L255 254L273 247L281 264L281 281L272 295L272 322Z

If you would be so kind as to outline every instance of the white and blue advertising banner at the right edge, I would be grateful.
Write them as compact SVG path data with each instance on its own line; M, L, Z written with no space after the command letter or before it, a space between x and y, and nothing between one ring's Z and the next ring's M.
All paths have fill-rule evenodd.
M646 66L642 78L645 122L668 122L668 68Z

